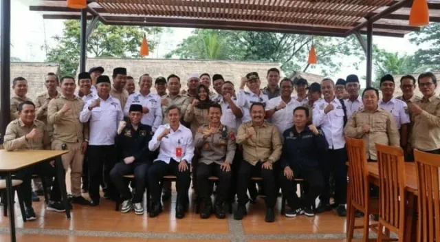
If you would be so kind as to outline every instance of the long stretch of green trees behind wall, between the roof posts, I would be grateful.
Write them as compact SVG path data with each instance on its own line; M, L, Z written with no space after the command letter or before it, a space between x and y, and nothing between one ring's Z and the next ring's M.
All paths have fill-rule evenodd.
M167 57L272 61L279 63L283 71L289 73L298 69L306 71L310 67L307 57L312 41L316 47L319 67L326 75L339 71L343 64L342 56L364 55L353 37L340 39L270 32L195 30Z

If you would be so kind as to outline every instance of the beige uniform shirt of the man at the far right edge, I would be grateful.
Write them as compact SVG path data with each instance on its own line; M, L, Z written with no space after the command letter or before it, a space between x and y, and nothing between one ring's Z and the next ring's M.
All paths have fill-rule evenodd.
M416 101L423 111L419 115L412 114L411 144L421 151L434 151L440 148L440 97L432 97Z

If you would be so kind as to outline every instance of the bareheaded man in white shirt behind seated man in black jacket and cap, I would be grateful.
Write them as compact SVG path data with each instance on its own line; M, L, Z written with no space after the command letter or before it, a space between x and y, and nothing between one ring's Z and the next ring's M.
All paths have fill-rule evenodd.
M124 107L124 115L129 116L131 104L140 104L142 105L142 113L144 113L141 123L151 126L153 131L156 131L157 127L162 124L162 108L159 95L152 94L150 91L152 85L153 79L151 76L148 74L140 76L140 89L137 93L129 96Z

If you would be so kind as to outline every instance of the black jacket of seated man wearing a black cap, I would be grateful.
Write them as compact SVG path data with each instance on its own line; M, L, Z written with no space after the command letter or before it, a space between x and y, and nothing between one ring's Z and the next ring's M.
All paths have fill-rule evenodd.
M126 124L115 138L118 160L134 156L134 162L153 162L154 153L148 149L148 142L152 137L151 126L139 124L135 131L131 124Z

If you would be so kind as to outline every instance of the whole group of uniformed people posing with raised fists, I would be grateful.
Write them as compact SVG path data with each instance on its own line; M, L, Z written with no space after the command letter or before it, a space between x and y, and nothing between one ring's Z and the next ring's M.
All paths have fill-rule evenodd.
M290 208L287 217L314 216L331 210L331 175L335 180L332 205L344 216L344 135L364 139L370 161L376 159L375 142L402 146L408 159L412 148L440 153L440 98L434 93L437 79L429 72L417 80L423 98L414 95L416 80L412 76L401 78L404 95L393 98L394 80L387 75L380 81L381 99L371 87L360 96L355 75L336 83L325 78L309 85L302 78L295 83L289 78L280 81L278 69L270 69L267 87L260 89L259 75L251 72L242 78L236 92L234 84L219 74L212 80L209 74L191 74L188 89L182 91L179 76L172 74L155 79L157 94L153 94L153 79L144 74L139 78L140 90L129 94L125 68L113 69L113 85L103 72L102 67L94 67L80 73L77 81L64 76L59 82L55 74L48 74L47 93L36 102L25 96L27 80L19 77L13 81L14 120L8 125L4 146L8 151L69 151L62 158L64 168L72 170L73 203L98 206L102 186L104 197L121 199L122 212L144 214L142 197L148 188L149 216L156 217L162 212L162 190L162 199L169 197L170 185L162 179L175 175L175 215L183 218L192 165L193 184L203 202L202 218L210 217L212 211L224 218L225 205L236 195L234 219L243 219L250 201L248 189L254 200L251 177L262 178L259 188L265 195L265 221L275 220L280 187ZM210 91L211 84L216 93ZM56 91L58 86L61 94ZM296 97L292 97L294 88ZM35 218L30 185L34 173L53 177L53 164L17 173L25 181L21 190L28 219ZM123 178L129 174L135 176L134 192ZM83 192L89 192L91 201L81 195L82 175ZM219 178L214 204L210 176ZM296 195L294 177L302 177L308 184L304 199ZM318 196L320 206L314 208ZM47 209L63 211L59 199L55 182Z

